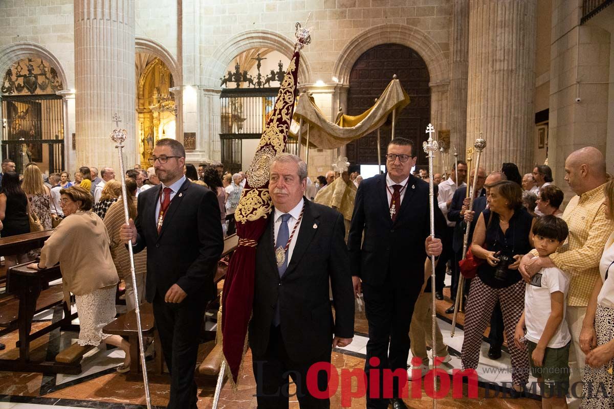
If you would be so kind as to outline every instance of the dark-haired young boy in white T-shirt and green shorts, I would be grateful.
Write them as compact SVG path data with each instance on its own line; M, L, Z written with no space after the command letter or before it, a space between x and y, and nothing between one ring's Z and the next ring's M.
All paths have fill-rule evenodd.
M540 257L554 253L567 239L567 223L548 215L533 226L535 250ZM524 312L516 325L514 342L529 347L531 373L542 389L542 408L567 408L571 335L565 321L569 278L556 267L543 268L526 285ZM526 328L526 334L524 329Z

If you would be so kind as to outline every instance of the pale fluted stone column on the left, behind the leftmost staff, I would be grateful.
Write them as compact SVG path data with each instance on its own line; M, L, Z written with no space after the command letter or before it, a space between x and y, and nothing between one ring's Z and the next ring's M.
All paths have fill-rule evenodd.
M113 114L126 129L126 167L138 161L134 121L134 1L75 0L76 166L114 166Z

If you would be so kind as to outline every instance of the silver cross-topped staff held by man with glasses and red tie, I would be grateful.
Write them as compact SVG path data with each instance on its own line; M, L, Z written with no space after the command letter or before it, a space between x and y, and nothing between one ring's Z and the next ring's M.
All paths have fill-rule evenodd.
M433 186L433 156L434 153L438 150L437 140L433 140L433 133L435 132L435 128L433 128L432 124L429 124L426 128L426 133L429 134L429 140L427 142L422 143L422 148L424 148L424 152L426 152L427 157L429 158L429 202L430 202L430 237L435 239L435 188ZM456 152L456 149L454 150ZM435 356L435 351L437 351L437 337L435 337L435 332L437 331L435 325L437 321L437 305L435 305L435 256L430 256L430 285L432 286L431 293L431 339L433 345L433 371L437 368L439 362L437 362L437 357ZM434 373L434 372L433 372ZM433 378L433 392L437 390L437 383L435 382L435 378ZM437 399L435 399L435 394L433 393L433 409L437 408Z

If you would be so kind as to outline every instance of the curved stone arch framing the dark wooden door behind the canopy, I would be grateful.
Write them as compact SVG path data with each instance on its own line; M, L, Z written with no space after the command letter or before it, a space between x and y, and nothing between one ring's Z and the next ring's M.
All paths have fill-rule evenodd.
M356 60L367 50L387 43L413 48L429 67L430 83L449 82L448 59L429 34L419 28L402 24L381 24L366 29L354 37L341 51L333 67L333 76L343 85L349 84L349 74Z

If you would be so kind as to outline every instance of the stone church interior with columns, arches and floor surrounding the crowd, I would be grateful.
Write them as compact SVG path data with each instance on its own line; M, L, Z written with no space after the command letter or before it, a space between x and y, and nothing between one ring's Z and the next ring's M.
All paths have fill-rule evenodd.
M596 147L614 173L613 3L0 0L1 156L14 161L18 174L35 162L47 176L66 171L72 178L82 166L113 167L119 175L109 138L118 115L128 134L128 168L149 168L155 143L171 138L184 145L186 162L196 167L222 162L230 174L247 170L289 67L300 22L311 29L311 44L301 51L297 96L312 101L322 118L339 123L344 115L362 115L393 80L408 98L392 121L335 147L319 144L314 129L309 143L309 127L295 118L286 151L305 159L311 180L342 159L364 178L376 175L393 137L422 147L429 137L424 129L432 123L441 147L433 172L449 174L456 159L465 159L483 137L488 143L481 166L487 172L513 162L524 175L547 164L569 202L573 192L564 182L564 166L572 151ZM428 165L427 156L418 155L416 170ZM18 246L40 248L49 237L43 233L21 241L0 239L0 256L14 254ZM236 245L236 236L225 240L218 295ZM147 407L140 364L133 362L128 373L115 370L123 362L119 348L91 348L58 361L79 337L76 307L61 300L59 269L36 282L41 295L30 310L23 307L30 290L8 278L2 264L0 343L6 349L0 350L0 409ZM461 368L464 315L459 313L451 337L450 281L446 275L437 322L452 356L441 369L452 374ZM116 304L118 319L128 316L123 284ZM196 383L202 409L213 405L220 368L218 310L216 299L200 331ZM152 314L144 317L153 340L145 353L151 403L163 408L169 399L168 368L156 348ZM369 331L358 305L355 322L354 342L333 349L332 363L340 371L365 365ZM136 340L133 329L116 331ZM535 391L510 396L507 342L502 357L489 359L486 335L478 398L468 397L464 383L461 397L450 391L437 406L541 407ZM251 368L248 350L237 389L225 383L217 407L257 407ZM356 387L356 379L351 385ZM425 385L412 381L405 402L411 408L432 407ZM331 407L347 407L340 389ZM349 407L365 407L365 397L354 397ZM298 408L292 395L290 408Z

